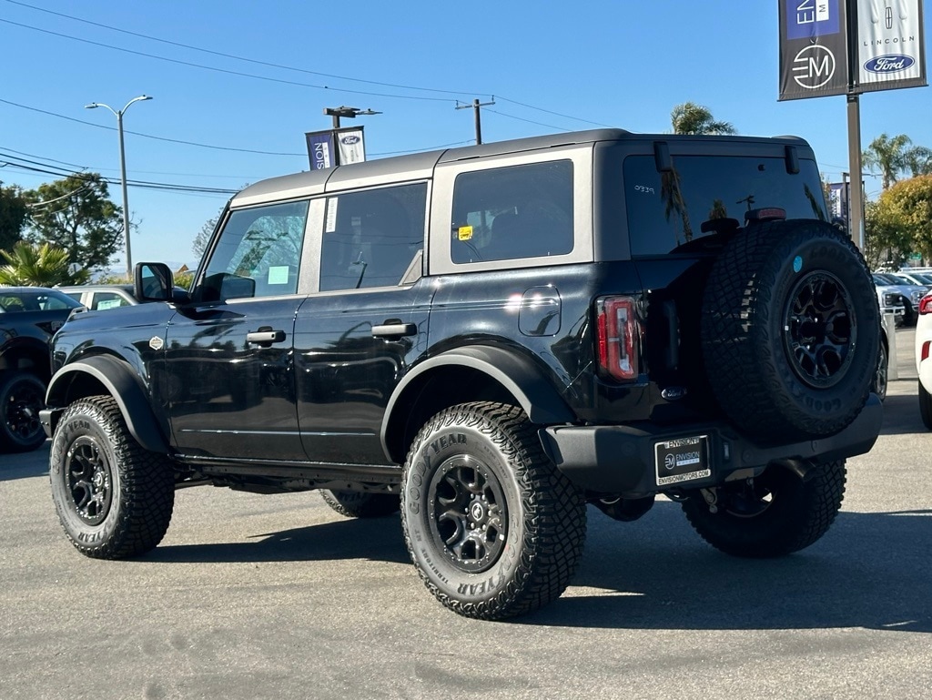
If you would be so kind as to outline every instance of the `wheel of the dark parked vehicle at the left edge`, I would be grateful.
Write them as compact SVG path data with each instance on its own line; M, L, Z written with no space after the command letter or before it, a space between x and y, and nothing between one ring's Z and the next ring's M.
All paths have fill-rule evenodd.
M29 372L10 371L0 379L0 446L28 452L46 441L39 411L46 405L46 385Z

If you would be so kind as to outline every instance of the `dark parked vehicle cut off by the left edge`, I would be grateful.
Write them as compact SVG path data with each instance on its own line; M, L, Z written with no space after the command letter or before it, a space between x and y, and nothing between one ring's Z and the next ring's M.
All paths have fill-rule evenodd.
M39 421L51 377L48 341L80 304L45 287L0 287L0 451L46 441Z

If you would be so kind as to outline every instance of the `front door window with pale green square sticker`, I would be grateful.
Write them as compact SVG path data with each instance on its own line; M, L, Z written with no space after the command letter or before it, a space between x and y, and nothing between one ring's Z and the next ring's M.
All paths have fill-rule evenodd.
M230 214L194 295L200 301L297 292L308 202Z

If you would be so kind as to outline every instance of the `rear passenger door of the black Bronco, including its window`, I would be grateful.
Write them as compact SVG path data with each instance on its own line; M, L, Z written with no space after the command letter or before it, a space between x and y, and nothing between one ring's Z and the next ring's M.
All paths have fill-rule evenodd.
M426 350L431 290L418 283L428 185L326 199L319 289L295 322L298 425L308 459L384 465L391 392Z

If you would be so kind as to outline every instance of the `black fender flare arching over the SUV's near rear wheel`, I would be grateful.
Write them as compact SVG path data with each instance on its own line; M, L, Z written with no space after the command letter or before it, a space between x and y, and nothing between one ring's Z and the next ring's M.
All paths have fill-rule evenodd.
M380 433L382 449L391 456L388 435L396 418L396 408L404 403L407 391L418 379L445 366L468 367L498 381L536 425L563 425L576 421L576 415L544 377L541 369L514 351L486 345L469 345L436 355L407 372L391 393ZM403 409L398 409L403 410Z

